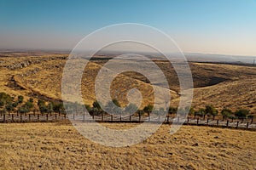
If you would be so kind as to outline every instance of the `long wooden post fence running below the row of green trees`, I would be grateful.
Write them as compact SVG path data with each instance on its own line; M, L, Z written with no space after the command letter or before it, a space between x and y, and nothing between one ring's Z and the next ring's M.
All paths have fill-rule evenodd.
M113 116L102 114L97 116L90 116L82 113L64 114L63 111L41 113L40 111L28 111L20 113L18 111L8 112L0 111L0 122L58 122L61 120L69 119L77 122L152 122L152 123L167 123L167 124L185 124L197 126L212 126L212 127L232 127L232 128L245 128L255 129L256 122L252 118L224 118L224 117L211 117L211 116L187 116L176 117L175 115L168 115L161 120L162 116L155 114L146 115L132 115L132 116Z

